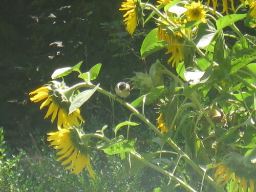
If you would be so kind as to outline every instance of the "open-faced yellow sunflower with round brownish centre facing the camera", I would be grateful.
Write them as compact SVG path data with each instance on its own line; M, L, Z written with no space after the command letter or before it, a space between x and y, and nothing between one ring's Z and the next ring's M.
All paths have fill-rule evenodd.
M187 9L185 15L188 21L201 20L202 23L206 23L206 11L200 1L198 3L192 2L191 5L185 5L184 7Z

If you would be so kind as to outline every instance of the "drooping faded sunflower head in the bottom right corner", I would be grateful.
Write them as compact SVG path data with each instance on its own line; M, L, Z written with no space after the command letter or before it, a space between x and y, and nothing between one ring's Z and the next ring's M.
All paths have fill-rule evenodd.
M224 186L228 182L232 182L231 192L237 191L237 187L239 192L247 192L247 189L254 192L256 166L246 161L245 157L231 153L225 157L222 163L213 166L212 168L217 168L214 174L217 183Z

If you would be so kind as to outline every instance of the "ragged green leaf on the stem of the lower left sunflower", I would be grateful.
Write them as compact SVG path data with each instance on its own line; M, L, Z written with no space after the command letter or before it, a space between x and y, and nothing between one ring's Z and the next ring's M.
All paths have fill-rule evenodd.
M137 139L132 139L128 141L122 141L120 143L115 143L107 148L102 148L103 152L108 155L115 155L123 152L134 152L134 145Z

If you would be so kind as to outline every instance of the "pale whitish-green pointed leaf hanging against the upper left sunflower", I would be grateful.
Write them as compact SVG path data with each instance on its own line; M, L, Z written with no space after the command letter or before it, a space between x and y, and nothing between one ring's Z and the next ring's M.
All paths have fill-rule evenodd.
M80 106L86 102L90 97L95 93L95 91L98 89L99 84L95 86L95 88L83 91L79 93L75 99L71 102L71 105L69 107L69 114L73 113L75 110L79 109Z

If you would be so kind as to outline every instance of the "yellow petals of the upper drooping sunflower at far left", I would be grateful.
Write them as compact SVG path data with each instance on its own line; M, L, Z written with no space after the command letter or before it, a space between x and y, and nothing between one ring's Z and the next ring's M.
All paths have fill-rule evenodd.
M71 114L68 114L70 103L61 102L61 98L56 97L51 86L44 86L38 88L37 90L30 92L29 95L34 95L30 98L30 100L33 102L39 102L46 99L44 102L41 103L39 109L41 110L45 106L49 105L45 118L48 118L50 115L52 115L51 122L53 122L58 115L58 127L68 127L72 125L79 126L79 120L81 122L85 122L80 115L79 109L75 110Z

